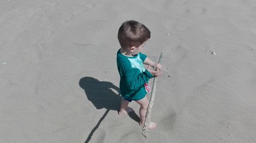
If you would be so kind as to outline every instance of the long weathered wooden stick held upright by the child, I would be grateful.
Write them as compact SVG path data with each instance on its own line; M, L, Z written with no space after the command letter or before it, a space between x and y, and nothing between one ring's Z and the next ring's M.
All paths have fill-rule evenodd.
M161 52L160 57L159 57L159 61L158 61L158 63L160 63L160 64L162 62L162 54L163 53ZM152 107L153 107L153 104L154 104L154 100L155 100L156 86L157 86L157 77L154 77L154 82L153 82L153 88L152 88L150 103L148 103L148 106L147 106L147 109L146 109L146 119L145 119L145 123L144 123L143 128L142 128L142 131L141 131L141 134L145 138L148 137L148 132L149 132L148 125L151 122L151 110L152 110Z

